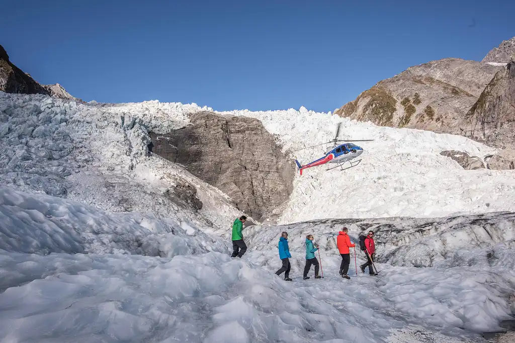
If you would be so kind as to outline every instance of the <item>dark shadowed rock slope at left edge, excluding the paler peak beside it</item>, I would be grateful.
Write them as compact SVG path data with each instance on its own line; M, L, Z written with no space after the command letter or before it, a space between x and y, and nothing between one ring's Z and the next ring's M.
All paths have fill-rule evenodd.
M9 61L9 55L0 45L0 91L6 93L45 94L50 93L30 75Z

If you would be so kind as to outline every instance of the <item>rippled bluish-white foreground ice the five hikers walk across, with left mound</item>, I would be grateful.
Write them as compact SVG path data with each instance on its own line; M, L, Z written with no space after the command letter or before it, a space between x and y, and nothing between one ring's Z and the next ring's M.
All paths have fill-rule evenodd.
M248 254L233 259L192 223L0 194L2 342L484 342L481 332L510 318L515 273L505 265L377 263L380 277L342 280L325 249L332 238L313 223L249 228ZM273 274L284 229L291 283ZM306 232L324 246L320 280L300 275Z

